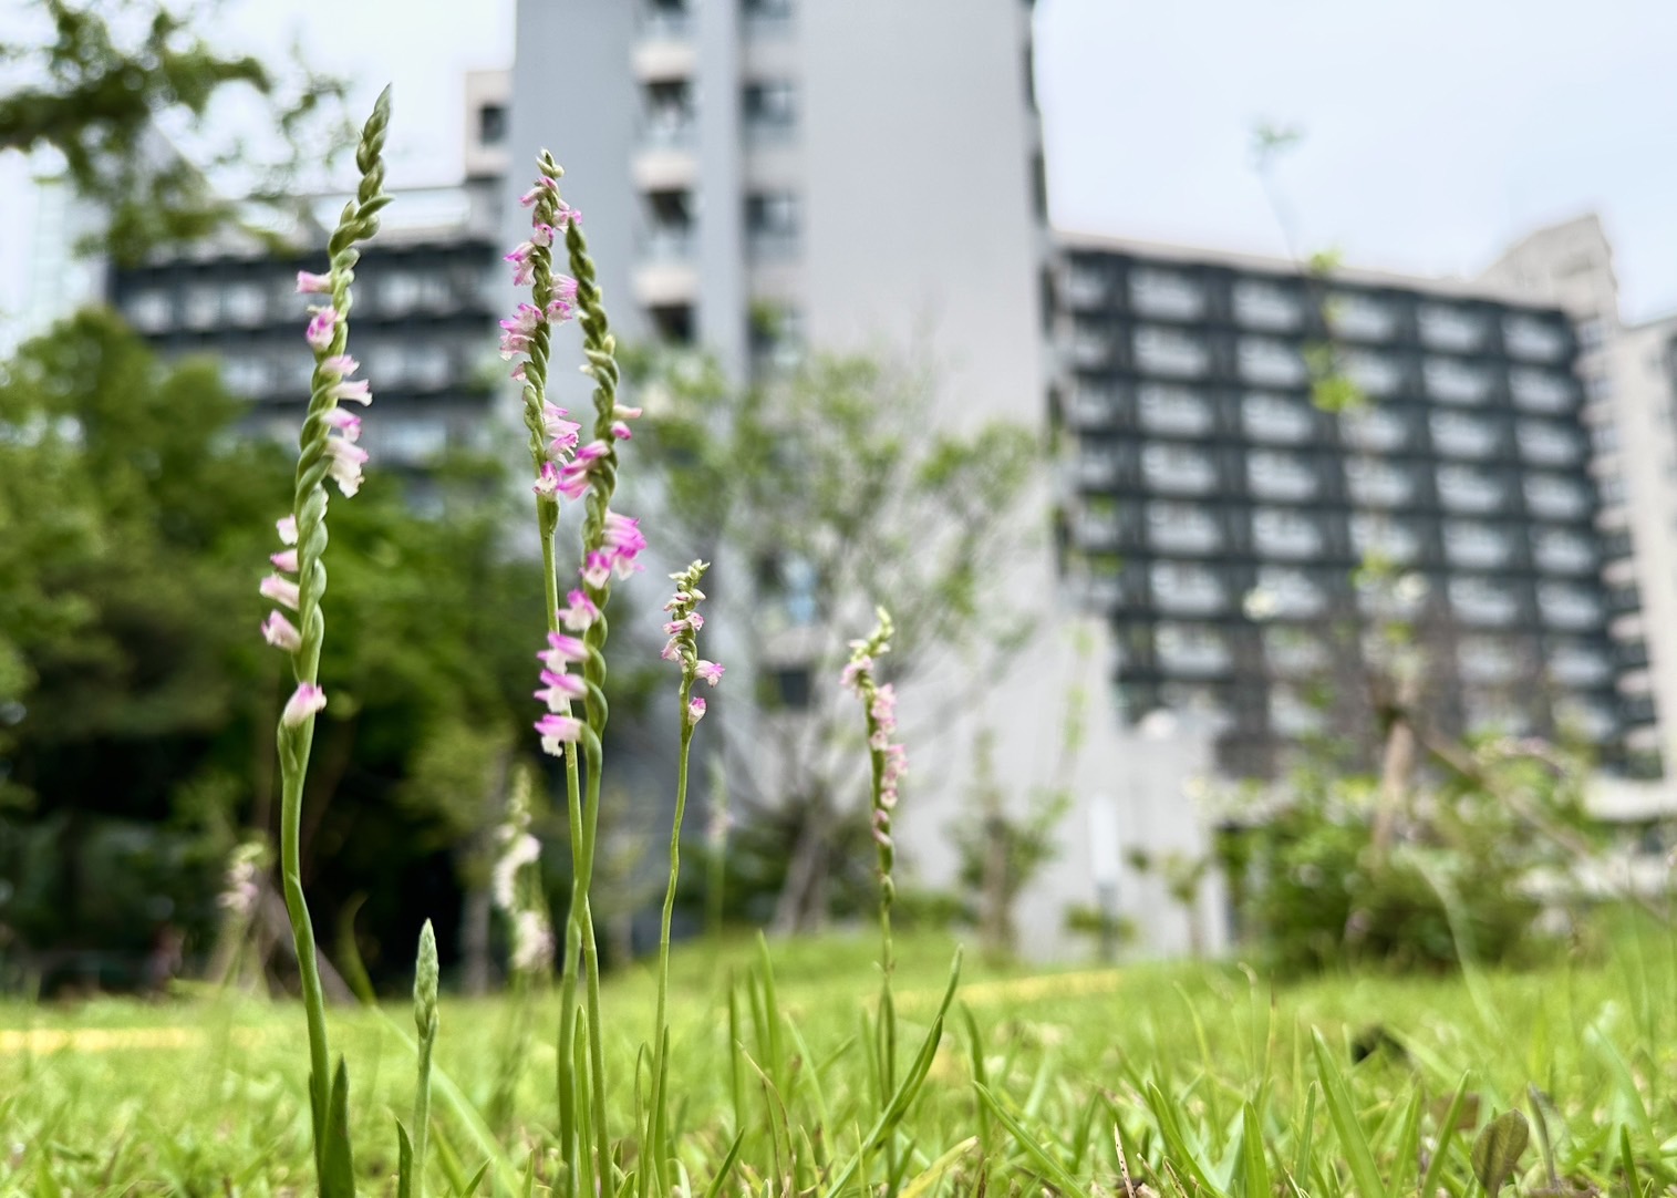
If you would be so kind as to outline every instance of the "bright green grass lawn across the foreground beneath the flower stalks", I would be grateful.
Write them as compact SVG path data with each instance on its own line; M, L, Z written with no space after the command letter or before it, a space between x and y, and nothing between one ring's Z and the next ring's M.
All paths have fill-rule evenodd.
M1181 1185L1258 1198L1296 1183L1311 1198L1412 1195L1434 1158L1434 1185L1467 1193L1476 1133L1436 1153L1467 1076L1456 1122L1541 1111L1534 1133L1546 1133L1561 1190L1628 1193L1628 1163L1642 1193L1667 1193L1677 1181L1677 943L1635 921L1607 943L1590 960L1533 973L1293 985L1233 963L1026 973L966 961L966 1013L944 1029L896 1151L912 1178L976 1138L926 1193L968 1193L981 1173L996 1186L1035 1190L1041 1178L1060 1191L1112 1193L1117 1126L1130 1169L1160 1193ZM953 953L948 940L899 938L904 1060L936 1013ZM678 953L672 1092L694 1193L736 1128L748 1134L735 1191L763 1193L783 1175L797 1190L830 1178L877 1109L857 1049L877 997L874 955L874 938L860 935L778 945L770 997L751 941ZM743 1052L729 1049L731 978ZM444 1094L434 1109L443 1156L458 1156L465 1173L501 1151L486 1139L493 1133L508 1169L522 1169L535 1146L545 1176L555 1005L552 995L523 1007L444 1002L438 1064L476 1116L463 1119ZM632 1153L624 1111L652 1022L651 975L609 978L604 1008L615 1050L612 1133ZM976 1057L969 1029L983 1044ZM1327 1074L1311 1029L1325 1040ZM394 1193L411 1030L397 1003L334 1017L369 1193ZM292 1003L205 995L0 1005L0 1193L310 1193L302 1045ZM979 1067L999 1111L976 1097ZM451 1164L433 1161L433 1193L449 1191ZM1523 1193L1551 1186L1538 1134L1521 1176Z

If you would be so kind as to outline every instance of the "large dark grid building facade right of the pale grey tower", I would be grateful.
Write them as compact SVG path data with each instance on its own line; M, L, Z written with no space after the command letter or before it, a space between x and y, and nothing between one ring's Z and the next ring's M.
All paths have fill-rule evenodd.
M1637 599L1602 582L1560 310L1072 238L1053 300L1063 562L1112 622L1129 720L1204 713L1236 777L1311 738L1372 765L1370 636L1400 616L1442 732L1565 732L1657 772L1623 753L1654 713L1615 690L1635 644L1608 624ZM1311 401L1328 346L1352 414Z

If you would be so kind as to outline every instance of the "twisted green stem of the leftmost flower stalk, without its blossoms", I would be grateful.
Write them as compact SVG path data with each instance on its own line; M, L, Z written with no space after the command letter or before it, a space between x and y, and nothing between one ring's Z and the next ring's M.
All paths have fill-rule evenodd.
M292 673L299 683L314 685L320 675L320 648L325 644L325 616L320 601L325 596L325 477L327 477L327 416L337 406L332 386L339 376L327 371L325 357L342 354L349 341L349 290L356 277L361 253L356 242L372 237L379 228L377 213L389 203L384 195L384 138L391 119L391 89L386 87L372 107L372 116L361 133L356 166L361 169L361 186L356 198L344 206L337 228L327 243L332 279L332 307L337 326L332 344L315 351L314 381L309 396L309 413L299 435L297 478L292 493L292 512L297 518L297 587L299 633L302 646L292 654ZM330 1094L330 1052L325 1030L325 993L320 987L320 966L315 955L314 923L302 883L302 805L304 782L309 773L309 752L314 747L314 715L297 727L283 721L278 730L280 750L280 878L285 893L285 913L292 925L292 943L297 950L297 968L302 975L304 1017L309 1024L309 1087L314 1099L315 1164L325 1141L327 1099Z

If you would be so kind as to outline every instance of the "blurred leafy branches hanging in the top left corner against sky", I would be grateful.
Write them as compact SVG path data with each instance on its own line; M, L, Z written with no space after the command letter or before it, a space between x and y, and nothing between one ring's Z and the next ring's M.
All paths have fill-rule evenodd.
M55 151L75 193L106 220L124 262L285 206L299 171L347 144L344 84L300 64L225 55L198 30L211 8L151 0L35 0L0 37L0 151ZM257 148L203 138L223 96L258 101ZM190 139L190 156L181 138ZM240 173L238 203L215 174Z

